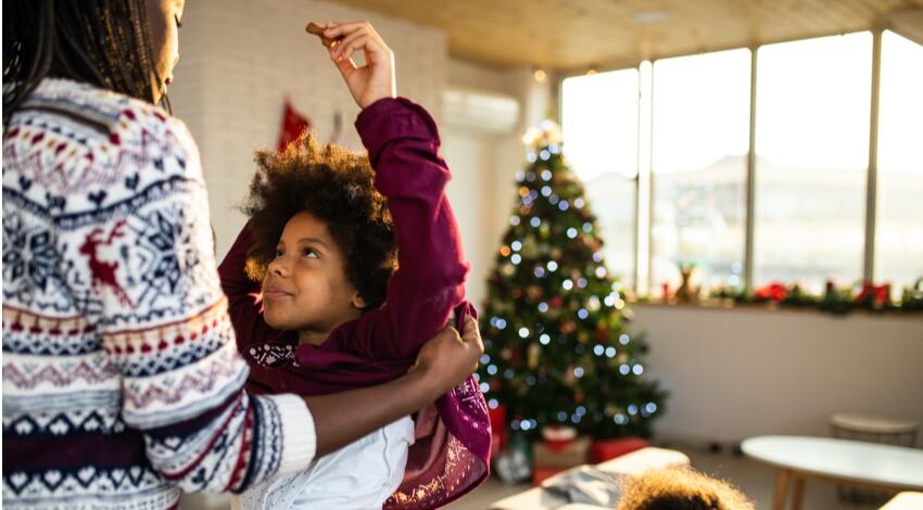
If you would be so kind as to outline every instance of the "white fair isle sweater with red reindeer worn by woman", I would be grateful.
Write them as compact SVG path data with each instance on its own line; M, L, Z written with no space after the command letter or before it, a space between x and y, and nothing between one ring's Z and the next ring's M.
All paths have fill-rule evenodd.
M3 507L174 508L305 469L294 395L243 392L188 130L47 79L3 133Z

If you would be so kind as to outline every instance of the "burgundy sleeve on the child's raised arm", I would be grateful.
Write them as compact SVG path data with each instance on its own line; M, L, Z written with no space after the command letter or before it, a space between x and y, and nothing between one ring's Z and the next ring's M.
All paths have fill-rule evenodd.
M375 187L388 197L399 268L385 304L363 316L355 336L376 358L407 359L445 326L465 295L468 264L445 195L450 171L439 155L435 123L409 100L369 105L356 129L375 168Z

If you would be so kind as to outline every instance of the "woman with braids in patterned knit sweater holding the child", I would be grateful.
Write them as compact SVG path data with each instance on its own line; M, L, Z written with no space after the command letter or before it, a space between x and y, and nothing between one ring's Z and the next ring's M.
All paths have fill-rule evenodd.
M165 100L182 0L3 3L3 503L241 492L462 382L473 322L404 378L243 392L198 149ZM349 412L343 412L349 409Z

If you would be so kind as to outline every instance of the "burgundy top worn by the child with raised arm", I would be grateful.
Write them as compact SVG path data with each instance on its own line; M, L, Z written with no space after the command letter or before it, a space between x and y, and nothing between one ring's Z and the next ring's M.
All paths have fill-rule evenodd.
M475 314L464 299L468 264L445 196L450 171L432 117L406 99L383 99L363 110L356 129L394 221L399 269L387 301L340 324L321 345L299 346L295 332L263 320L260 283L244 273L253 244L244 227L219 273L253 392L318 395L391 381L406 373L453 310L458 324ZM472 377L415 420L404 483L385 507L443 506L486 477L490 424Z

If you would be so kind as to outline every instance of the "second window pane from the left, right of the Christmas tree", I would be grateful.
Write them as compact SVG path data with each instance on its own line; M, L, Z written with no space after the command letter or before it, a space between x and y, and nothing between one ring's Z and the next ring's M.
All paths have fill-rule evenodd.
M750 52L654 63L653 293L694 264L706 288L741 284L746 231Z

